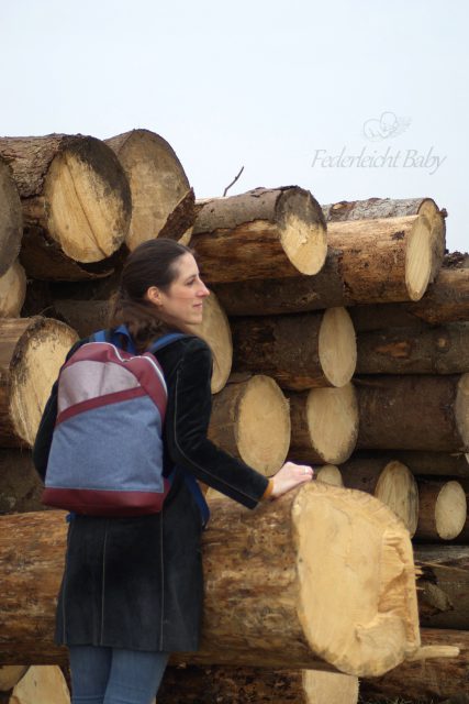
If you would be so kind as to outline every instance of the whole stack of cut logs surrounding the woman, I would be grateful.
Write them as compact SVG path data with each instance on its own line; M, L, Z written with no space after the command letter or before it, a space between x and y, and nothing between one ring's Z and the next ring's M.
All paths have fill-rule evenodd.
M175 656L158 704L356 704L358 678L406 698L468 686L469 261L444 256L445 216L431 198L321 207L292 186L197 200L147 130L0 139L0 666L65 662L66 527L40 513L30 448L126 253L167 237L212 290L193 329L213 352L211 439L317 481L254 513L209 491L201 650ZM13 686L5 701L26 702Z

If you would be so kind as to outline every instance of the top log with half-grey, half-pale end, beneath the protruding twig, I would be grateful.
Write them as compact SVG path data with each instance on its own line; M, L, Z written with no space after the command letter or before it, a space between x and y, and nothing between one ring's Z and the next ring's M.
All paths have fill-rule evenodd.
M209 284L315 274L327 253L321 206L297 186L206 200L190 245Z

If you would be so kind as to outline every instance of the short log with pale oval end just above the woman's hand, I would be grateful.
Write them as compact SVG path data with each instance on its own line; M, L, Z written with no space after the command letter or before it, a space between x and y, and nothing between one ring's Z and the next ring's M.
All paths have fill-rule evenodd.
M266 476L282 466L290 446L290 410L276 382L256 375L213 397L209 438Z

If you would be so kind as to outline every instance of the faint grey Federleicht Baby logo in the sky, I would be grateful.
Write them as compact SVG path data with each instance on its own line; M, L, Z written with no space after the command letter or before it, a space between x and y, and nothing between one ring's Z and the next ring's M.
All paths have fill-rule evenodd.
M403 148L394 143L397 138L409 130L411 122L411 118L399 117L390 111L365 120L361 138L373 142L373 147L365 145L355 153L347 146L335 152L315 150L311 166L313 168L422 168L433 176L446 161L446 156L438 155L433 145L426 150L416 150Z

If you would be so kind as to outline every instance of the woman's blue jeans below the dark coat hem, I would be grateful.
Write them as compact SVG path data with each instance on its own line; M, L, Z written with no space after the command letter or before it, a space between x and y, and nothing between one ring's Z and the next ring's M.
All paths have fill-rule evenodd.
M150 704L168 662L167 652L71 646L72 704Z

